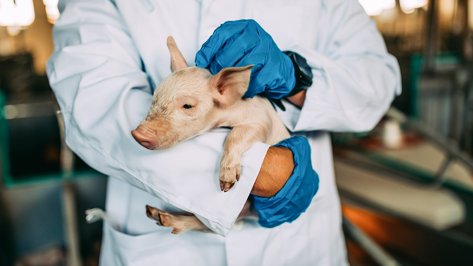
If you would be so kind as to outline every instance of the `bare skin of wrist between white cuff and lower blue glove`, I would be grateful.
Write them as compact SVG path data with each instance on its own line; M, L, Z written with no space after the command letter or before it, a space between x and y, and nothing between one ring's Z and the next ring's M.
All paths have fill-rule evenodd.
M286 184L293 170L292 151L286 147L270 147L251 194L267 198L276 195Z

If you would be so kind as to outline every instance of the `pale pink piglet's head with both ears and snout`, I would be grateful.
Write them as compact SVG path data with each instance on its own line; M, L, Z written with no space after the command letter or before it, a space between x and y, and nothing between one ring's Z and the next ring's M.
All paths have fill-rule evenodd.
M216 75L188 67L172 37L167 38L171 71L155 89L149 112L131 131L149 150L168 148L216 125L245 93L253 65L228 67Z

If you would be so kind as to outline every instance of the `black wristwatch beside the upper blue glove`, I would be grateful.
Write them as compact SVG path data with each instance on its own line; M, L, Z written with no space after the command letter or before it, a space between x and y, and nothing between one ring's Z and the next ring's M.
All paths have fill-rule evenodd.
M299 92L307 89L312 85L312 69L307 64L307 61L304 57L300 54L292 52L292 51L285 51L283 52L289 56L294 65L294 75L296 76L296 85L294 89L286 96L293 96L298 94ZM286 108L281 103L280 99L271 99L272 102L277 105L281 110L286 111Z

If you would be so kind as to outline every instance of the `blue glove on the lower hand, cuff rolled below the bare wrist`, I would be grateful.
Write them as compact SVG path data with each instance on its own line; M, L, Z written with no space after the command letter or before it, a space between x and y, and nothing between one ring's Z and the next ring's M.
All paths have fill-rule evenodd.
M294 154L294 171L281 190L271 198L253 195L258 223L267 228L292 222L307 210L319 189L319 176L312 169L310 145L305 137L294 136L274 145L289 148Z

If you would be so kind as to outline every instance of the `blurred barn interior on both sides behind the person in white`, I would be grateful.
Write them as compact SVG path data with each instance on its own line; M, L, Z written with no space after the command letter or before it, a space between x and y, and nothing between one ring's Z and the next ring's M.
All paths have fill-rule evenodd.
M359 0L403 93L333 133L352 266L473 265L473 0ZM0 0L0 266L98 265L106 178L64 144L45 76L57 0Z

